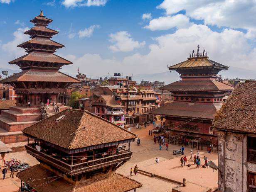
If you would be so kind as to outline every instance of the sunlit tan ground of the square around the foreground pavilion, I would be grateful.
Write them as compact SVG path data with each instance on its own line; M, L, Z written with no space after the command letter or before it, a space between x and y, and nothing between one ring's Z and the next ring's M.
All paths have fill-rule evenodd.
M136 192L171 192L172 188L178 185L175 182L161 180L156 177L148 177L139 173L130 176L130 168L134 168L136 164L140 170L160 175L171 180L182 182L183 178L186 178L186 181L212 189L217 188L218 176L216 171L213 172L211 168L196 168L192 161L187 162L187 164L192 164L190 167L185 166L182 168L179 163L181 156L174 156L172 154L174 149L180 149L181 146L169 144L168 151L165 150L165 146L162 146L162 150L160 151L158 142L155 144L153 141L154 134L152 136L148 135L149 129L152 129L152 124L150 124L147 129L131 128L131 131L140 137L141 143L140 146L137 146L136 142L131 143L130 147L131 151L133 151L132 158L117 170L118 173L131 177L143 184ZM185 147L184 152L187 159L190 158L190 150L190 147ZM196 150L193 151L196 153ZM201 165L204 164L204 156L207 156L208 160L212 160L216 164L218 163L217 153L209 154L206 153L206 151L200 151L199 154ZM35 158L28 155L25 151L5 154L6 160L10 160L11 157L20 159L22 162L25 161L31 166L38 163ZM160 163L155 163L156 157L159 158ZM1 167L3 168L3 164ZM7 173L6 179L2 180L2 174L0 175L0 192L17 192L20 187L20 179L16 176L14 178L10 178L9 176L10 172Z

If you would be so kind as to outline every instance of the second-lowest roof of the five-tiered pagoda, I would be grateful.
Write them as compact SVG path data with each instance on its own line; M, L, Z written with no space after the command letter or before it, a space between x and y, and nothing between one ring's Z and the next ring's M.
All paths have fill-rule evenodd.
M39 52L33 51L27 55L21 56L13 61L10 61L10 64L15 64L20 61L40 61L40 62L47 62L47 63L63 63L63 64L72 64L71 61L68 61L60 56L57 56L52 53L48 52Z

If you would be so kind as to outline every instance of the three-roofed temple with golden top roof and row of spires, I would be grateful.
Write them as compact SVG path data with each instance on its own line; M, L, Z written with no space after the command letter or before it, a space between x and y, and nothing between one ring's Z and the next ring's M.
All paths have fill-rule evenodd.
M174 100L152 113L165 117L165 128L171 141L184 139L199 143L217 145L217 134L212 128L214 114L221 108L225 98L234 89L218 79L217 73L228 70L227 66L212 61L207 52L194 50L186 61L170 66L180 74L181 80L165 85L162 90L173 93Z

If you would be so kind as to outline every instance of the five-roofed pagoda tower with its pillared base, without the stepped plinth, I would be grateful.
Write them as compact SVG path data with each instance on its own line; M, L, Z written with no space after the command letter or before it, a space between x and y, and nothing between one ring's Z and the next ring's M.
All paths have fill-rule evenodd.
M15 87L17 93L17 105L26 106L46 103L49 99L52 103L65 103L66 87L72 83L80 82L76 78L59 72L62 66L72 64L54 52L64 45L52 41L51 38L57 31L47 28L52 19L46 18L42 11L40 15L32 19L35 27L26 31L30 40L18 45L24 48L26 55L21 56L10 64L16 64L22 72L3 80Z

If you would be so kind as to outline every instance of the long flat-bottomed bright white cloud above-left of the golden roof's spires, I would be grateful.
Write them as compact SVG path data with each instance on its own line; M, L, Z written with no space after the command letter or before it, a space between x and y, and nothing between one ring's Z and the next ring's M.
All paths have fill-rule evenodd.
M187 28L191 25L190 19L182 14L174 16L159 17L157 19L152 19L145 29L150 29L151 31L156 30L167 30L173 27L177 29Z

